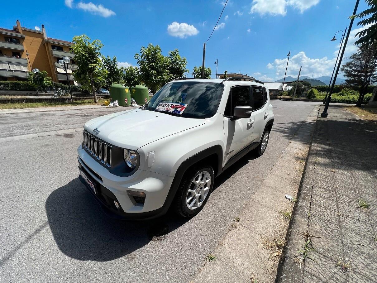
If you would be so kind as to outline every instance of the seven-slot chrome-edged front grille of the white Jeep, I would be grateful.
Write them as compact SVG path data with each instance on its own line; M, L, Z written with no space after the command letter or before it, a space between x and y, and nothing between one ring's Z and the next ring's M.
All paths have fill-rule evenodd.
M84 131L84 148L94 158L107 167L111 167L111 146L99 140L89 132Z

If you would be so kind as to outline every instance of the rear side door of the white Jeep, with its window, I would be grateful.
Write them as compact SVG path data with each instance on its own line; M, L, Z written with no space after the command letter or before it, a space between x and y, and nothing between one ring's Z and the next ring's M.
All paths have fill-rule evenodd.
M261 141L264 128L265 120L268 118L268 109L267 109L267 91L261 86L253 86L253 114L254 114L254 131L251 137L252 142Z

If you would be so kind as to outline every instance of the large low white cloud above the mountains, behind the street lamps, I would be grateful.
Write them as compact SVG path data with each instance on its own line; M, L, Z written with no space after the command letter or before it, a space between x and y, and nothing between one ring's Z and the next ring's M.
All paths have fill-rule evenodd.
M268 69L274 69L276 71L276 79L279 79L284 76L285 68L287 67L288 58L284 59L275 59L273 63L268 63ZM298 70L302 66L301 75L310 76L313 74L313 77L321 76L331 76L331 73L334 68L336 57L333 59L328 59L327 57L323 58L309 58L305 52L301 51L296 55L293 55L288 63L287 76L297 77Z

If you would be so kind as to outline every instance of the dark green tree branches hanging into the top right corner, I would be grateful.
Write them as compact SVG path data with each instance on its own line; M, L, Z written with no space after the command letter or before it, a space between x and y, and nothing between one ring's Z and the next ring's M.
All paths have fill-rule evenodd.
M359 36L359 40L356 40L355 45L361 45L362 47L373 45L377 41L377 0L366 0L365 2L369 6L368 9L355 15L356 18L364 18L357 23L358 26L371 25L355 35L355 37Z

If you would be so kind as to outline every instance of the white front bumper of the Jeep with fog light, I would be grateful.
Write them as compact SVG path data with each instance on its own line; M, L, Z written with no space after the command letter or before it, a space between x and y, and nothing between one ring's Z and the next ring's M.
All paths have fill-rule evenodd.
M110 217L117 219L153 218L167 211L165 206L170 203L167 203L166 198L174 177L140 169L129 177L120 177L111 174L81 145L77 152L79 167L95 183L98 194L94 194L81 176L80 180ZM146 194L144 204L136 204L135 201L132 201L127 190L144 192ZM114 200L120 204L119 209L115 207Z

